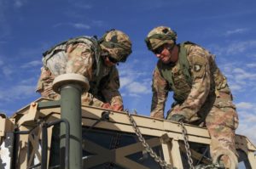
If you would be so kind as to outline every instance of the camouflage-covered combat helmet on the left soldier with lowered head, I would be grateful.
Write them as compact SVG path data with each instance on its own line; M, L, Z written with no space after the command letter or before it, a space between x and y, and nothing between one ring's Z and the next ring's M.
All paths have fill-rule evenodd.
M101 48L107 50L108 53L118 62L125 62L131 54L131 40L122 31L107 31L99 40Z

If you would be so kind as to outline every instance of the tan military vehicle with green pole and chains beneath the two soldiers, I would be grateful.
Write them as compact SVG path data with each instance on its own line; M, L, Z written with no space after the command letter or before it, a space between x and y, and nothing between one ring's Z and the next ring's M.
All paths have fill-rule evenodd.
M1 169L222 168L219 158L210 158L206 128L83 105L84 80L55 80L60 100L40 98L10 117L0 115ZM255 169L252 142L236 135L236 149L239 166L230 158L230 168Z

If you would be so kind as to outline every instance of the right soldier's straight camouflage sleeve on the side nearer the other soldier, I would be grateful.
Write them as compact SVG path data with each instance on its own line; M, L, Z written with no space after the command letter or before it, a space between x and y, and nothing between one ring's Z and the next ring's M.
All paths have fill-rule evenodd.
M168 96L168 83L160 75L160 71L155 68L152 82L152 103L151 103L151 117L164 118L164 110L166 99Z

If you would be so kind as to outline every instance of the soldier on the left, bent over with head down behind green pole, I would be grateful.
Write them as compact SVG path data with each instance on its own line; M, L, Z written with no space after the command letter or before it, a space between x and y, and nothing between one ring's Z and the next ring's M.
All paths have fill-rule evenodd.
M88 93L82 94L82 104L123 110L119 93L119 73L116 64L125 62L131 54L130 38L122 31L107 31L96 37L75 37L50 48L43 55L44 67L37 92L49 99L59 99L52 90L56 76L78 73L90 82Z

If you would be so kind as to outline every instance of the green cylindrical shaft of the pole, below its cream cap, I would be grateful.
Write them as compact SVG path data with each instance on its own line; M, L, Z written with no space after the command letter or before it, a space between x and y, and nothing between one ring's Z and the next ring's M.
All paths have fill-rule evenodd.
M69 168L72 169L82 168L81 91L79 85L61 87L61 119L67 119L70 124ZM65 164L65 133L66 127L61 124L61 165Z

